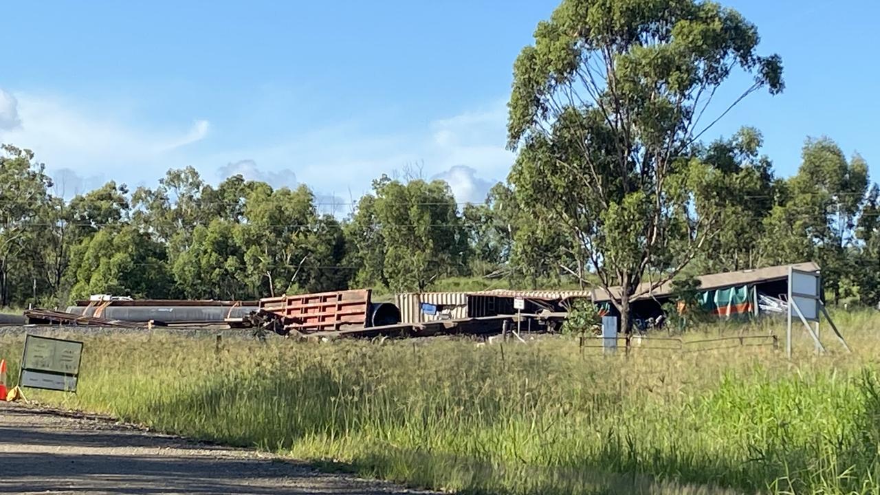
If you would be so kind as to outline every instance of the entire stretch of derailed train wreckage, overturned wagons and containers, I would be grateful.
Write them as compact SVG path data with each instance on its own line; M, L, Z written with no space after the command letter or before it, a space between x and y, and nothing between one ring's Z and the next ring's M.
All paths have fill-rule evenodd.
M720 318L780 314L787 302L790 269L818 272L813 262L739 270L697 277L700 307ZM663 321L664 304L674 302L671 282L643 283L630 301L640 321ZM107 328L154 327L252 329L255 334L319 338L351 336L487 335L503 329L554 331L577 300L614 314L619 287L605 291L509 291L400 293L394 302L374 302L370 289L293 294L251 301L131 299L97 295L66 311L31 309L27 324ZM768 294L779 295L774 298ZM4 315L0 315L4 316ZM0 325L21 324L14 315ZM18 317L20 319L20 317Z

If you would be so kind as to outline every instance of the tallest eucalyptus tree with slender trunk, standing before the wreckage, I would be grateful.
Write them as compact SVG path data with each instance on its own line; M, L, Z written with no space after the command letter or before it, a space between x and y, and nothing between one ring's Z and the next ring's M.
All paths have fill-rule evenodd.
M628 329L645 271L674 275L722 228L730 184L693 147L708 101L732 69L754 75L745 94L780 92L781 62L737 11L693 0L564 0L534 38L514 64L510 182L574 238L578 275L622 286Z

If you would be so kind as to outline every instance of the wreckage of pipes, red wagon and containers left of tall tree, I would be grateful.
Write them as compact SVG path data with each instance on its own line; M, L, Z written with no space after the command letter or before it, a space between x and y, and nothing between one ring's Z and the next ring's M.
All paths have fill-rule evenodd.
M452 294L452 295L449 295ZM374 302L370 289L282 295L257 301L130 299L92 296L66 311L30 309L31 325L69 325L126 329L252 329L282 336L319 338L353 336L433 336L491 334L510 326L517 316L510 293L399 294L397 304ZM558 298L558 294L549 298ZM548 296L532 294L529 309L555 307ZM511 299L511 300L507 300ZM438 301L448 304L440 304ZM401 306L402 305L402 306ZM557 305L558 306L558 305ZM405 311L401 312L401 308ZM561 314L542 311L531 317L534 329L559 321ZM532 329L532 321L528 323Z

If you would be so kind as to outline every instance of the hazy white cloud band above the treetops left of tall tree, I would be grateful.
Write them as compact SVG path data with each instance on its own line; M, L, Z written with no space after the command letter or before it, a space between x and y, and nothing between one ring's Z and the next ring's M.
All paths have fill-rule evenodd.
M242 174L276 187L304 182L316 195L334 201L343 196L344 203L369 191L381 174L414 163L423 164L425 177L450 181L458 201L482 201L486 184L503 180L513 162L505 149L502 100L422 125L383 128L376 123L381 120L358 115L281 137L254 136L237 127L265 120L261 117L268 110L251 103L236 121L148 125L143 123L147 119L130 111L121 114L114 105L2 92L0 142L33 149L50 171L70 169L89 182L102 177L154 185L168 168L192 165L209 179L220 170L224 176ZM213 137L215 127L217 136L241 137L240 144Z

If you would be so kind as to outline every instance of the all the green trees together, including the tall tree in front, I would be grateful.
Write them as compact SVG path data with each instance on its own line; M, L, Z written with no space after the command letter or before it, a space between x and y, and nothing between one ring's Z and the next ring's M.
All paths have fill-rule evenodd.
M783 178L758 129L706 139L753 92L784 90L781 57L759 41L712 2L563 0L514 63L517 157L479 204L458 204L443 181L383 175L336 218L305 186L213 186L193 168L65 201L33 153L5 145L0 303L424 291L473 277L620 286L628 329L629 302L673 277L813 260L829 299L875 305L880 188L862 157L808 138ZM749 82L718 100L734 72Z

